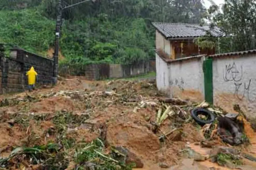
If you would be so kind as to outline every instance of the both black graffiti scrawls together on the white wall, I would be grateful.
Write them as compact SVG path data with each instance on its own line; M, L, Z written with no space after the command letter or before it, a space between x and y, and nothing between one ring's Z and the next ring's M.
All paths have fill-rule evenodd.
M236 63L226 65L223 79L225 82L234 83L234 95L238 99L242 100L246 98L247 100L252 101L250 98L251 79L249 79L248 82L242 81L243 66L237 67Z

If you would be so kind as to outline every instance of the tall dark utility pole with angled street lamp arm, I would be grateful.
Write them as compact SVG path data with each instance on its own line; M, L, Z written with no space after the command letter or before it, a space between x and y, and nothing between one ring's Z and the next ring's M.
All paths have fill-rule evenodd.
M58 0L57 5L57 18L56 18L56 30L55 30L55 49L54 49L54 57L53 57L53 84L57 84L57 76L58 76L58 58L59 58L59 36L60 36L60 26L61 26L61 16L62 11L66 8L79 5L84 2L95 2L96 0L85 0L81 2L77 2L72 5L68 5L62 8L62 0Z

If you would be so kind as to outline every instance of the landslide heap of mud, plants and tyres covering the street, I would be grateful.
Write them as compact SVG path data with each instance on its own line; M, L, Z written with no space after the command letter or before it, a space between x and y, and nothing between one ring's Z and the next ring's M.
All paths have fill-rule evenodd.
M48 107L54 109L45 113ZM248 149L255 133L235 107L238 113L227 113L207 102L166 98L149 80L14 95L0 101L0 167L243 168L245 160L256 161Z

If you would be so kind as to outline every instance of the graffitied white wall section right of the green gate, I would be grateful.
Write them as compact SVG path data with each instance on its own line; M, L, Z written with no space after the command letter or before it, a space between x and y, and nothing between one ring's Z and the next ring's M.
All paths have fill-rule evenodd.
M256 55L213 58L214 103L228 107L238 103L256 116ZM253 115L251 115L253 116Z

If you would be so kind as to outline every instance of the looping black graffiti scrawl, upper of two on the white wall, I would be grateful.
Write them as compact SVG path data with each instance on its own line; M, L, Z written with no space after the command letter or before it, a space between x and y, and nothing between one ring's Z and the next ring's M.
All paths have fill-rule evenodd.
M232 65L226 65L225 73L223 75L223 79L226 82L234 81L239 82L243 78L243 67L241 66L240 71L237 69L237 66L235 63Z

